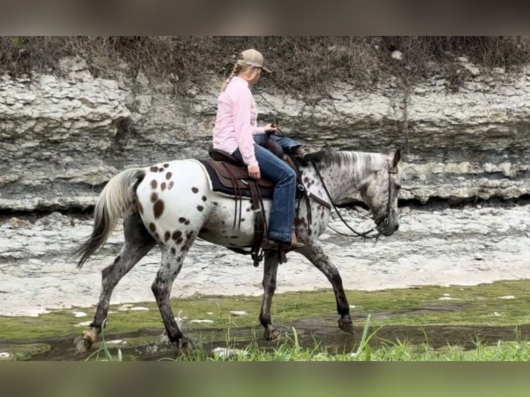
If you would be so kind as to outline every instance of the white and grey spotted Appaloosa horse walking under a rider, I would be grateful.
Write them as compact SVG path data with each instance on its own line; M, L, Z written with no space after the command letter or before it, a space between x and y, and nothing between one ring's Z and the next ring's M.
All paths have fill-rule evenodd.
M399 229L401 150L390 154L326 150L318 154L318 162L299 164L300 181L309 200L298 203L293 227L304 247L297 252L327 277L335 293L338 326L353 333L342 277L318 237L327 228L330 204L354 192L360 193L369 208L378 235L391 236ZM161 264L152 282L152 292L170 343L179 348L188 344L190 341L184 338L170 306L172 285L197 238L232 250L252 246L257 214L250 200L242 200L239 214L242 212L244 218L239 219L236 228L232 222L237 211L234 201L233 197L212 190L203 163L193 158L129 168L113 176L95 204L91 235L75 250L79 258L77 267L81 268L104 244L119 219L123 221L125 241L113 264L102 270L98 306L89 329L76 338L77 352L89 351L98 340L113 288L157 244L161 249ZM271 201L264 199L263 205L268 214ZM280 338L280 331L271 321L278 261L277 252L264 252L264 294L259 322L268 340Z

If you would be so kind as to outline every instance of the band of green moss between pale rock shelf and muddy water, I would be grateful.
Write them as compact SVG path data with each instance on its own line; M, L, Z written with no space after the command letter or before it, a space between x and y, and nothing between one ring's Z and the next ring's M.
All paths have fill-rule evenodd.
M515 299L500 299L513 295ZM530 280L498 281L478 286L423 286L380 291L351 290L347 292L356 325L363 325L367 314L380 325L431 325L480 324L517 325L530 323L528 304ZM453 298L440 300L440 298ZM254 326L261 334L259 310L261 297L247 296L197 296L173 299L172 308L183 320L183 329L235 329ZM116 313L109 315L106 333L109 338L119 333L141 329L163 332L163 322L154 302L137 304L149 311L118 311L121 305L111 305ZM85 326L76 326L91 320L95 308L86 310L87 317L75 318L73 310L53 311L39 317L0 317L0 346L6 340L32 340L39 338L64 338L77 336ZM336 313L335 298L331 290L277 294L271 308L275 324L288 324L307 317ZM230 311L246 311L248 315L234 316ZM211 313L211 314L209 314ZM190 320L212 320L211 324L197 324Z

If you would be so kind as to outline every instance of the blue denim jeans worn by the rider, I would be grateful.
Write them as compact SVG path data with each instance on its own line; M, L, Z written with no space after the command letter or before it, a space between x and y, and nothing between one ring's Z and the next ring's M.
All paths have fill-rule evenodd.
M296 174L289 165L264 147L254 145L254 152L260 174L275 182L267 235L289 243L295 217ZM239 149L232 154L243 163Z

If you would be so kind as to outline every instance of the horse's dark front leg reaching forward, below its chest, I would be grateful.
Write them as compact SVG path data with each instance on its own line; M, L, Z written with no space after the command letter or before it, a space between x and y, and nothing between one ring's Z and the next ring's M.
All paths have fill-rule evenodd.
M333 292L335 293L335 299L337 302L337 312L338 315L340 315L338 319L339 328L342 329L342 331L354 333L354 324L351 322L349 304L346 299L344 288L342 287L342 277L340 277L338 269L333 263L331 263L331 260L324 248L322 248L320 242L311 240L304 241L304 243L306 243L306 246L298 250L298 252L304 255L304 257L307 257L318 270L324 273L333 286Z

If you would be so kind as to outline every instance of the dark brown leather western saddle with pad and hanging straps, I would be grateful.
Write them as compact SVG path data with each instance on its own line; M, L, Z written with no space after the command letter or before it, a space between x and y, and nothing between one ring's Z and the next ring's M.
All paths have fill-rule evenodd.
M259 253L259 251L262 241L266 236L266 216L264 214L263 199L273 198L275 183L266 178L259 178L257 180L250 178L250 176L248 176L246 167L241 165L235 156L232 156L226 151L210 149L209 154L211 159L201 160L201 163L208 171L210 180L212 181L212 190L214 192L221 192L223 194L233 196L235 199L233 228L235 228L236 225L238 228L241 226L243 198L247 197L252 201L255 212L255 223L253 243L250 247L250 252L241 248L230 249L235 252L251 255L254 260L254 266L258 266L259 261L261 261L264 255L263 251L261 253ZM300 207L300 198L302 196L307 196L307 192L304 185L300 181L300 172L298 170L298 166L295 164L295 160L293 160L293 158L291 158L289 155L284 155L283 159L287 164L289 164L289 166L293 167L297 174L297 199L299 200L298 207ZM282 258L284 259L285 255L283 255Z

